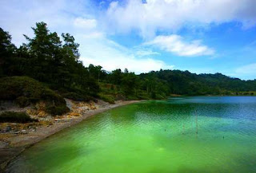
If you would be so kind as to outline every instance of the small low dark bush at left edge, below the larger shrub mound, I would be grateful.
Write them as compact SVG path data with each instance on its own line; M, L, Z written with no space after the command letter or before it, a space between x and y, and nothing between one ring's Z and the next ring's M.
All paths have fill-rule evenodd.
M2 112L0 114L0 123L29 123L38 120L31 119L26 112Z

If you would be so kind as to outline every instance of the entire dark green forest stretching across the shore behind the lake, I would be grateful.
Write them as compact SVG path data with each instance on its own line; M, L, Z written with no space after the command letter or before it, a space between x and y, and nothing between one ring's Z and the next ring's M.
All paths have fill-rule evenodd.
M0 28L0 100L19 99L24 104L46 95L45 92L38 92L34 97L14 93L24 88L31 90L32 86L47 93L56 92L54 98L101 98L110 103L118 99L164 99L171 95L254 95L256 91L255 80L242 81L221 73L198 75L161 69L136 75L128 69L107 72L99 65L85 67L79 60L79 45L70 33L59 37L56 32L50 32L45 22L36 23L32 29L34 37L24 35L26 43L17 48L10 34ZM52 98L51 94L47 96ZM57 102L63 100L58 98Z

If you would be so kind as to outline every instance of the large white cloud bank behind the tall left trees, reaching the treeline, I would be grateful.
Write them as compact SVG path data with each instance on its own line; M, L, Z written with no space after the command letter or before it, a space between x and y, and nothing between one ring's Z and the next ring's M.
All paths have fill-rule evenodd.
M2 0L0 22L3 29L10 31L16 45L26 41L22 35L24 33L33 37L30 27L35 22L46 22L50 31L57 31L58 35L74 35L76 42L80 44L80 59L84 65L102 65L108 71L127 68L135 73L173 68L172 65L150 57L156 54L150 49L127 49L110 40L101 28L101 21L90 15L94 14L90 13L91 9L88 0Z

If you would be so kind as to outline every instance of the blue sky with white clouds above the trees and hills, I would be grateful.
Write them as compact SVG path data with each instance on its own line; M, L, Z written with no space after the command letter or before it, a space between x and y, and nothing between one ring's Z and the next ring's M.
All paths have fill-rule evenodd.
M81 60L108 71L181 69L256 78L254 0L2 0L0 27L15 45L30 27L71 33Z

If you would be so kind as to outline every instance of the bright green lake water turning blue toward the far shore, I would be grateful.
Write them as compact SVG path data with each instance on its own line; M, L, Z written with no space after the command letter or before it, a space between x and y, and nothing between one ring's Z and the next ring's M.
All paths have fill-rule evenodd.
M256 172L256 97L114 108L35 144L7 172Z

